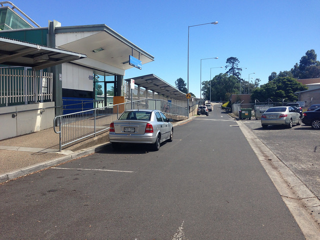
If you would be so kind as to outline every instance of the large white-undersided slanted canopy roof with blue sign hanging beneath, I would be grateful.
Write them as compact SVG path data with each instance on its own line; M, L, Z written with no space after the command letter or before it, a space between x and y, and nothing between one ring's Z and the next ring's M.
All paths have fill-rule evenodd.
M129 55L142 64L154 57L142 50L105 24L55 27L57 46L75 52L83 52L87 58L103 62L119 69L132 68ZM81 64L81 62L78 62Z

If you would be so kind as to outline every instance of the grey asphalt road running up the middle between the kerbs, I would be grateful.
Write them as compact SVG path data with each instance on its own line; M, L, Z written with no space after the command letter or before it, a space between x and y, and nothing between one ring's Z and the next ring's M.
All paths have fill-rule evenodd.
M304 239L218 107L176 126L159 151L107 145L1 184L0 196L1 239Z

